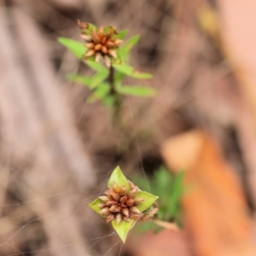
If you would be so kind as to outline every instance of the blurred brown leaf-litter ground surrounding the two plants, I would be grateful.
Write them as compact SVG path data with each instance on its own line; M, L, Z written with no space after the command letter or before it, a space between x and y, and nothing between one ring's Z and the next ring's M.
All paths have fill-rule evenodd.
M0 0L0 255L256 255L255 17L253 0ZM67 80L90 74L57 42L82 41L78 19L141 36L131 65L159 93L124 98L125 129ZM88 207L118 165L149 191L184 170L171 226L125 246Z

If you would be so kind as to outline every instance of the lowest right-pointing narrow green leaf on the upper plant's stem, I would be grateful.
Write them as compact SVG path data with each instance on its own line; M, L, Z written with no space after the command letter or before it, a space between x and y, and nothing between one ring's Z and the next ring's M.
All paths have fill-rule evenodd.
M153 88L131 85L118 86L117 91L120 94L131 96L155 96L157 94L157 90Z

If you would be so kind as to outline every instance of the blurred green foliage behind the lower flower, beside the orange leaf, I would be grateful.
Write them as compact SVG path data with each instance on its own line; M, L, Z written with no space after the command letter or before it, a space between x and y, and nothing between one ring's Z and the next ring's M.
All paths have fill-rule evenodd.
M158 204L159 211L157 217L160 220L167 222L176 222L182 224L181 219L181 204L180 201L183 196L183 176L184 171L178 172L177 175L171 175L166 167L161 166L153 177L148 177L148 180L143 176L135 176L133 180L138 184L141 189L149 188L151 193L159 196ZM160 230L156 228L154 224L143 225L141 230L148 230L153 228L154 230ZM155 229L156 228L156 229Z

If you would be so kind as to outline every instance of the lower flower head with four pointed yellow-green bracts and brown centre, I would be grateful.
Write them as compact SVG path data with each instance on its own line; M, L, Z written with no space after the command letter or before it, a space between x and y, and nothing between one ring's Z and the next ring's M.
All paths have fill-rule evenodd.
M90 203L90 207L111 222L120 238L125 242L133 224L144 216L158 197L140 190L127 180L121 169L116 167L109 178L108 189Z

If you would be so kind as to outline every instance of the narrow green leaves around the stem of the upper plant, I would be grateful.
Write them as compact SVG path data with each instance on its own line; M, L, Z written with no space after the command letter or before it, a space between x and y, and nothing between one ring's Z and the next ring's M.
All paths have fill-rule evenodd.
M98 31L98 28L90 23L88 27L84 26L81 29L81 34L85 38L91 38L93 31ZM128 30L115 32L115 28L107 26L103 29L104 33L111 33L113 40L124 40L128 34ZM92 90L89 102L101 101L106 106L115 106L120 108L120 99L122 96L155 96L157 91L153 88L144 87L140 85L123 85L125 77L133 79L151 79L150 73L138 72L134 67L131 67L126 62L129 61L131 49L139 41L139 36L133 36L126 40L122 46L117 47L115 50L117 57L111 57L111 67L105 67L101 62L96 62L95 56L84 57L87 49L84 44L77 42L70 38L58 38L60 44L69 49L73 55L77 56L80 60L90 67L95 74L92 77L84 76L82 74L69 74L68 79L72 82L83 84ZM86 39L87 40L87 39ZM108 65L107 65L108 66ZM117 103L119 102L119 103Z

